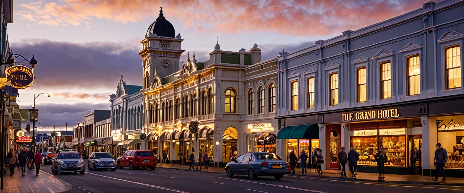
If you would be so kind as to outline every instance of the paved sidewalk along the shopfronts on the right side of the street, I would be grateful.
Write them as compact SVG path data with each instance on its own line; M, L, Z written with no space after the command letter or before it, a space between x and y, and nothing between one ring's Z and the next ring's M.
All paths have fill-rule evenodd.
M164 166L158 165L162 168L176 168L176 169L185 169L188 170L189 166L180 165L180 164L165 164ZM203 169L201 171L205 172L218 172L226 173L223 167L209 167L208 169ZM358 172L356 179L351 179L351 172L347 172L347 178L340 177L339 170L324 170L322 171L323 175L318 176L315 172L315 169L308 169L306 176L301 175L301 169L296 168L297 177L307 177L307 178L329 178L333 180L340 181L372 181L377 182L379 174L377 173L361 173ZM439 178L441 180L441 177ZM399 175L399 174L385 174L385 182L387 183L396 183L396 184L424 184L424 185L441 185L435 181L432 181L432 177L422 176L422 175ZM383 183L385 183L383 182ZM464 186L464 178L446 178L446 183L443 184L446 186Z

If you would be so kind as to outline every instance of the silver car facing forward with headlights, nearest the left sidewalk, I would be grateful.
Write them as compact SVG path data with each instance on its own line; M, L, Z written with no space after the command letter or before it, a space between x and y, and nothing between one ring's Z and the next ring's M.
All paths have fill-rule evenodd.
M52 173L79 173L84 174L85 166L79 152L62 151L56 157L52 158Z

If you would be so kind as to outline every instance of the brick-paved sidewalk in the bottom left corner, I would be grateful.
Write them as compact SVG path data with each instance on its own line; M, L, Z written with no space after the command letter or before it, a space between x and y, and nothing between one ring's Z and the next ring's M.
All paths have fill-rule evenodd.
M18 168L14 168L13 176L10 176L10 171L6 170L4 175L3 190L5 193L58 193L64 192L72 188L72 186L64 181L55 178L52 174L40 171L39 175L35 175L35 169L29 170L26 168L26 174L21 175Z

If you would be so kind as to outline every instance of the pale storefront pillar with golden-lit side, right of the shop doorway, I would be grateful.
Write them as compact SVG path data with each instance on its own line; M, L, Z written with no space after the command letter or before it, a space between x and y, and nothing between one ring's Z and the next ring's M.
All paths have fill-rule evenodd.
M420 122L422 123L422 170L424 175L430 176L430 169L435 168L433 162L438 143L437 118L422 116Z

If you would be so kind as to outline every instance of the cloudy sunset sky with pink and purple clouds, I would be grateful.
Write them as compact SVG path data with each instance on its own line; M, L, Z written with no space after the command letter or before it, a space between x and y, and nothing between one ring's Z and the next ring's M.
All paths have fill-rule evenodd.
M303 49L317 40L422 8L430 0L163 0L163 14L180 33L181 63L195 51L209 59L221 50L251 49L262 60L284 49ZM142 85L140 41L158 17L160 0L15 0L8 38L13 53L35 55L35 81L20 90L20 108L36 99L39 131L68 129L93 110L110 110L120 74ZM19 61L17 62L25 62Z

